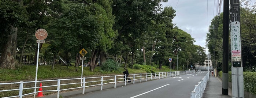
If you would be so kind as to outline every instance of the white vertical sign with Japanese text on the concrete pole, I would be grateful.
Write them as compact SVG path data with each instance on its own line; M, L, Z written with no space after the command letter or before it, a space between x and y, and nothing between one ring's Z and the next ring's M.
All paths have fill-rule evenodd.
M231 22L230 29L232 67L242 67L240 22Z

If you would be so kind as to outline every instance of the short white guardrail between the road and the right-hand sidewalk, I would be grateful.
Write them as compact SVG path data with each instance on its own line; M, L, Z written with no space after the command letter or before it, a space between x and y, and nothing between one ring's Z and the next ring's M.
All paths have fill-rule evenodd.
M193 91L190 91L190 98L203 98L203 93L206 87L206 84L209 79L209 72L204 76L200 82L195 85L195 88Z

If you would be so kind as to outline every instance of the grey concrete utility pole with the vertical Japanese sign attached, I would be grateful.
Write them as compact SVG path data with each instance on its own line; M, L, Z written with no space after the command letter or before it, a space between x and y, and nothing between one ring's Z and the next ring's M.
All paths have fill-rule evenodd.
M230 20L232 97L244 98L239 0L230 0Z

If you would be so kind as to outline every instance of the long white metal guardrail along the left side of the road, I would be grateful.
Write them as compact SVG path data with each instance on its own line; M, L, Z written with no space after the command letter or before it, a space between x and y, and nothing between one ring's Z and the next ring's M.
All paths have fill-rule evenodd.
M147 81L148 79L160 79L160 78L167 78L168 77L172 77L172 76L178 76L178 75L183 75L183 74L188 74L188 73L192 73L192 71L175 71L175 72L157 72L157 73L140 73L140 74L131 74L129 75L129 78L133 81L133 84L135 83L135 80L142 82L142 80ZM124 85L126 86L126 82L128 80L126 80L125 78L123 78L126 75L114 75L114 76L100 76L100 77L89 77L89 78L75 78L75 79L56 79L56 80L41 80L41 81L29 81L29 82L14 82L14 83L0 83L0 87L5 87L4 85L12 85L12 84L16 84L19 85L19 88L16 89L8 89L8 90L0 90L0 93L4 93L4 92L8 92L8 91L16 91L18 92L18 95L15 96L9 96L9 97L3 97L3 98L14 98L14 97L18 97L18 98L22 98L26 95L31 95L36 93L40 93L40 92L56 92L57 93L57 97L60 97L60 91L64 91L64 90L72 90L72 89L78 89L78 88L82 88L82 94L85 93L85 88L86 87L92 87L92 86L101 86L100 90L103 89L103 85L105 84L114 84L114 88L116 87L116 83L119 82L124 82ZM82 80L82 81L81 81ZM67 81L72 81L72 83L67 83ZM75 82L74 82L75 81ZM56 83L55 85L49 85L49 86L41 86L41 87L27 87L26 83L37 83L37 82L53 82ZM50 83L49 83L50 84ZM76 86L74 88L64 88L67 85L80 85ZM27 88L26 88L27 87ZM36 91L34 92L33 90L35 88L47 88L47 87L52 87L52 88L57 88L56 90L42 90L42 91ZM63 89L62 89L63 88ZM30 93L28 93L29 91L23 91L23 90L30 90ZM195 88L195 90L197 90ZM194 91L195 91L194 90ZM26 94L23 94L26 93ZM8 94L8 93L7 93ZM7 95L6 94L6 95ZM7 95L8 96L8 95ZM194 97L191 97L194 98ZM197 98L197 97L196 97Z

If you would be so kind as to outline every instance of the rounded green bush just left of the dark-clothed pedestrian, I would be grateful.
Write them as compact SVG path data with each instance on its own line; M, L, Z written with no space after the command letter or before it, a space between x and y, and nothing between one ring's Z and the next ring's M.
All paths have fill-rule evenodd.
M114 60L109 59L106 62L102 63L100 68L103 71L116 71L119 68L119 64L116 63Z

